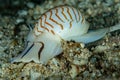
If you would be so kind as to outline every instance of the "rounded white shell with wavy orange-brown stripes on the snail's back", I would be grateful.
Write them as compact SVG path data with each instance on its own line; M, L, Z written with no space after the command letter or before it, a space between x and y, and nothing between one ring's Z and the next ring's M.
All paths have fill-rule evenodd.
M69 6L59 6L50 9L40 17L35 25L34 35L46 32L58 35L64 40L71 40L71 36L82 35L88 28L79 10Z

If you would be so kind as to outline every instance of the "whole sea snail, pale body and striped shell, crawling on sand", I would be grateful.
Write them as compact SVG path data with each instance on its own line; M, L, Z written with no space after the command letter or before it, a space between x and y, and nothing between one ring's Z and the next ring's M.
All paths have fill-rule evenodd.
M11 60L46 64L62 52L61 40L94 42L106 33L120 29L120 24L110 28L88 30L89 24L80 11L70 6L58 6L44 13L30 30L25 50Z

